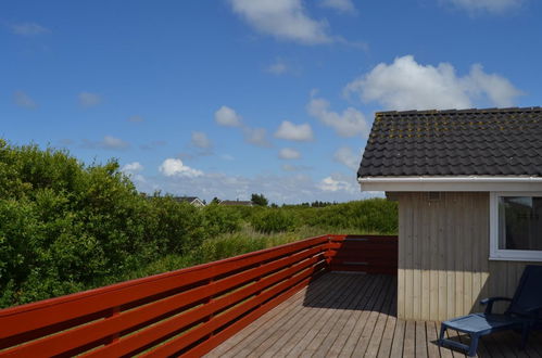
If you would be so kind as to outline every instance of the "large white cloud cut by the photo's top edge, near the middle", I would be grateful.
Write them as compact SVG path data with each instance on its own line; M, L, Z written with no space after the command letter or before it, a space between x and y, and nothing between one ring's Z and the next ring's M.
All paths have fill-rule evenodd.
M262 34L305 44L327 43L326 21L308 16L302 0L230 0L234 12Z

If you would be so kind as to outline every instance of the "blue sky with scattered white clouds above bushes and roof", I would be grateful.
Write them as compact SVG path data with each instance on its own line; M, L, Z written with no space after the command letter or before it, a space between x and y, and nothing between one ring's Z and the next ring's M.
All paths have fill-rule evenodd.
M533 0L3 1L0 137L138 189L350 201L374 113L537 106Z

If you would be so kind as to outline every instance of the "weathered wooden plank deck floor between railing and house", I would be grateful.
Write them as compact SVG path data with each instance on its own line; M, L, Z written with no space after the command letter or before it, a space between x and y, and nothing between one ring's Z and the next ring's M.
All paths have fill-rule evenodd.
M438 322L396 319L395 297L395 277L326 273L206 357L464 357L434 344ZM542 332L518 345L518 334L496 333L478 356L542 357Z

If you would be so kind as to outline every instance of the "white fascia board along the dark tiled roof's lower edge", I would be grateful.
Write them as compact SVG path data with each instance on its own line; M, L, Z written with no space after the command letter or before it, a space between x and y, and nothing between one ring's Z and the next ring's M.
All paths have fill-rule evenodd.
M365 177L362 191L542 191L541 177Z

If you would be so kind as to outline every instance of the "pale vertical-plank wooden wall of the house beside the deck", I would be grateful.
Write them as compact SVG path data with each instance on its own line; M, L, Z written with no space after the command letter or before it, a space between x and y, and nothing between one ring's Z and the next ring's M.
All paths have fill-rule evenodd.
M482 310L481 298L512 297L527 263L488 259L489 193L391 194L399 201L399 318L446 320Z

